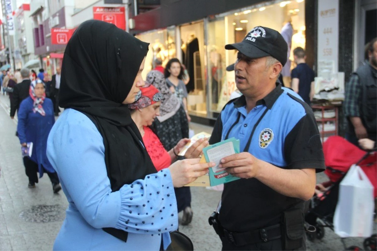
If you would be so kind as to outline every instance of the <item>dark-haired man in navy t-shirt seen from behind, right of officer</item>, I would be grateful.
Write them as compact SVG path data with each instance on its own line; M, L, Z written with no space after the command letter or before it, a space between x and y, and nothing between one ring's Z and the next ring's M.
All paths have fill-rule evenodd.
M297 66L291 72L292 89L310 106L314 96L314 71L306 63L304 49L295 48L293 57Z

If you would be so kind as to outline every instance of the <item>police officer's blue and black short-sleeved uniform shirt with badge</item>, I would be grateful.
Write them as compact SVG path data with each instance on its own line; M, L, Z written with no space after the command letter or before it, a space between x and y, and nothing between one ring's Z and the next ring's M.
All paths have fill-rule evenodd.
M240 140L241 152L277 167L325 168L313 111L293 90L279 84L249 113L245 105L242 95L224 107L210 144L235 137ZM255 178L239 179L224 185L219 220L228 231L255 230L280 223L285 210L302 202Z

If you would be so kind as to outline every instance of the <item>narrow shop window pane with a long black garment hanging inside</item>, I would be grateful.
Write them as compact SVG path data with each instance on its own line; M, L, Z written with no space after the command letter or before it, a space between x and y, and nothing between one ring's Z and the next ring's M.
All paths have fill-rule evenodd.
M180 31L182 63L190 77L186 84L187 109L192 115L207 116L204 23L181 26Z

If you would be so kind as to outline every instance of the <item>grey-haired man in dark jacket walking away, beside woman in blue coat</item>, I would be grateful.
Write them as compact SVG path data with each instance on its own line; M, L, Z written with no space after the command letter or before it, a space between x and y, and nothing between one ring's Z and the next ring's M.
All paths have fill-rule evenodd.
M20 107L21 102L29 96L29 88L30 88L30 70L29 69L22 69L21 70L21 77L22 82L16 84L13 89L13 98L11 101L11 118L14 118L16 110L18 111L18 107Z

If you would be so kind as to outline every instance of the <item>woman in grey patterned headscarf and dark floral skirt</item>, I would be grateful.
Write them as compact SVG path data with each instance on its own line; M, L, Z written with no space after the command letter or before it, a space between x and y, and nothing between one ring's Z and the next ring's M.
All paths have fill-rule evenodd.
M164 148L169 151L183 138L189 138L189 122L183 104L169 89L162 73L152 70L147 74L147 83L151 83L162 94L159 115L152 124ZM178 212L183 211L182 225L192 221L190 187L175 188Z

